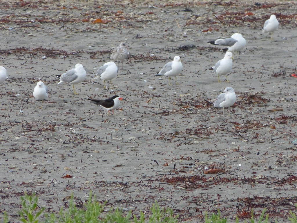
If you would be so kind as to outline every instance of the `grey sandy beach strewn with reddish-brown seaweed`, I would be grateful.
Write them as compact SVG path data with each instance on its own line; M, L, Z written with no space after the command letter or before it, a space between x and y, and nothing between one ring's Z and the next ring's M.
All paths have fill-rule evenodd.
M105 209L150 213L155 200L202 222L220 211L229 222L258 216L271 221L296 212L297 128L294 1L0 1L0 219L18 222L20 196L59 212L73 193L89 191ZM271 14L279 29L262 34ZM207 43L239 32L247 40L233 54L228 76L210 67L224 47ZM104 89L96 69L121 42L129 56ZM178 84L155 75L180 56ZM86 79L59 78L77 63ZM292 76L293 74L293 76ZM49 97L40 108L33 88ZM236 103L214 108L232 87ZM120 95L106 113L86 98ZM230 111L230 114L229 114ZM68 178L65 176L68 175ZM64 178L63 178L64 177Z

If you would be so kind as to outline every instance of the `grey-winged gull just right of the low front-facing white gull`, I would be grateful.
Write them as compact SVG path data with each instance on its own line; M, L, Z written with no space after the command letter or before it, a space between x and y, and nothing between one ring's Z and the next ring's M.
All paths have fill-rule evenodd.
M60 75L57 75L57 76L60 78L60 82L58 84L61 84L63 82L72 84L73 92L75 95L77 95L74 89L74 84L78 84L86 78L86 71L85 69L83 69L83 65L76 64L75 68L68 70L66 73L63 73L61 76Z

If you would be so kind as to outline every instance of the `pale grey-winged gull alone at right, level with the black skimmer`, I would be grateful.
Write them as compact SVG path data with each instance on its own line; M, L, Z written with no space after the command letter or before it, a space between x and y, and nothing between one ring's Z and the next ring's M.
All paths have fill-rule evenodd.
M224 93L219 94L214 103L214 107L223 108L223 117L225 117L224 108L232 106L236 101L236 94L232 87L226 87ZM230 111L229 111L230 114Z

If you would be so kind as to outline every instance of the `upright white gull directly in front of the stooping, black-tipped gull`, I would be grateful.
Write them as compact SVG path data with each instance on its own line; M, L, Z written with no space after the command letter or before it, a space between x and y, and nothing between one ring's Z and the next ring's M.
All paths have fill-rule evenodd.
M212 69L214 69L212 72L218 75L218 82L220 82L220 75L226 75L226 81L229 82L227 79L227 74L231 71L233 63L232 59L232 53L227 52L224 58L216 62L216 64L212 67Z

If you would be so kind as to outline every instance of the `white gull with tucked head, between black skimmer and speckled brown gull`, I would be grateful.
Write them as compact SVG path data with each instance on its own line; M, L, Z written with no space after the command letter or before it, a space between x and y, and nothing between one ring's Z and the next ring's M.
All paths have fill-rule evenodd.
M116 66L114 62L110 61L98 68L97 74L96 74L97 76L94 79L98 79L100 77L100 79L103 80L104 88L107 88L105 81L110 80L110 86L111 86L111 80L113 78L116 78L116 75L118 74L118 72L119 72L119 68Z

